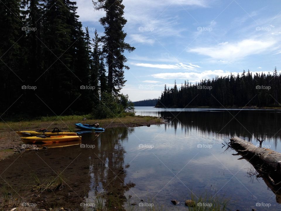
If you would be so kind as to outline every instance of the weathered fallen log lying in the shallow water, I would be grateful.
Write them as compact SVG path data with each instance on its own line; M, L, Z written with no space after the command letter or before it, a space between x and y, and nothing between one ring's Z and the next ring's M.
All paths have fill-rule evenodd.
M239 159L246 159L257 171L257 177L262 177L265 184L276 195L277 203L281 203L281 153L268 148L262 148L263 140L257 139L260 144L256 147L251 142L233 137L230 139L230 147L238 153L233 155L242 156Z

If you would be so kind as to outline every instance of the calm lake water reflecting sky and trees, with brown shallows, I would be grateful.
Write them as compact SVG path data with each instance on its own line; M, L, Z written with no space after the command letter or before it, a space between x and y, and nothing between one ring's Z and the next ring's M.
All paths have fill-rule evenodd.
M229 200L229 210L281 210L276 197L279 194L275 195L262 178L250 177L252 165L245 159L238 160L241 156L232 155L234 150L225 151L222 145L232 136L253 144L259 144L259 138L265 140L266 147L281 152L280 110L136 107L136 111L136 115L172 118L165 125L107 128L99 135L83 134L85 147L73 145L15 155L0 161L0 170L4 171L1 185L7 183L25 201L41 201L26 193L32 183L30 172L42 180L63 172L64 189L41 196L52 208L79 209L83 201L93 202L96 194L105 192L118 197L125 209L136 202L137 208L144 210L138 206L142 199L163 205L166 210L186 210L184 202L191 193L194 198L208 193ZM172 199L180 204L172 205Z

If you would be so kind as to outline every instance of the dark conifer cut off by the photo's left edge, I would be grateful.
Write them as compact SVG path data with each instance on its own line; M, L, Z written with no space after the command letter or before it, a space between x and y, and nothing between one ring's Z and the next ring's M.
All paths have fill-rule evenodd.
M20 1L2 0L0 2L0 91L2 98L5 100L1 102L0 113L11 106L22 93L21 65L23 59L20 43L25 35L22 27ZM14 106L17 105L19 103L16 103ZM9 110L11 111L12 108Z

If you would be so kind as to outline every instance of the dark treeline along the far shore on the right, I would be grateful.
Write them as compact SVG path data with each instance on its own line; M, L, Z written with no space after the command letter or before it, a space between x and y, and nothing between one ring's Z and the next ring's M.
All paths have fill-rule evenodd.
M248 70L237 76L217 76L215 79L202 80L195 85L185 81L178 88L165 85L157 107L187 106L267 106L281 107L281 74L252 73Z

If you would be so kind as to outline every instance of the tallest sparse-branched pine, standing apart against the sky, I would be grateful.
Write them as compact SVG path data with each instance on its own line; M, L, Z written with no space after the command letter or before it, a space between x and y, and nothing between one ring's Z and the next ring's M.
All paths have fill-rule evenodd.
M127 20L123 17L123 0L97 0L93 1L96 9L103 9L106 16L100 18L100 23L104 27L102 52L108 66L108 88L114 94L119 93L125 84L124 69L129 69L124 63L127 61L124 51L135 50L128 43L124 42L126 33L123 31Z

